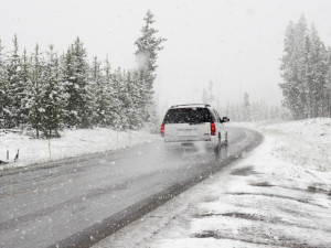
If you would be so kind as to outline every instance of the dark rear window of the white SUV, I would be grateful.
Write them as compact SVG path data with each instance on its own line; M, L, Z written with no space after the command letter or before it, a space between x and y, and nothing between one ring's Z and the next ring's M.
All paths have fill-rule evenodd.
M166 114L163 123L202 123L212 122L207 108L173 108Z

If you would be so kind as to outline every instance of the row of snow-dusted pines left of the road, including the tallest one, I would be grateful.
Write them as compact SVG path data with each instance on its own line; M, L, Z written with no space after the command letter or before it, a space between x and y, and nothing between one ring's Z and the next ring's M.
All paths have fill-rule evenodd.
M139 129L154 118L153 82L157 52L164 39L154 37L148 11L136 41L137 69L111 69L108 58L88 63L81 40L63 54L50 45L41 53L3 52L0 42L0 128L32 128L35 136L58 136L62 128L111 127Z

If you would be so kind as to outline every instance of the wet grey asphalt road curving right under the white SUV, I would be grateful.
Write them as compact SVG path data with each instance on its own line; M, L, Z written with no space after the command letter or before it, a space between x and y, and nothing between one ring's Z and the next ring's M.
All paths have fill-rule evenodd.
M257 132L228 129L221 151L162 141L0 174L0 247L89 247L253 149Z

